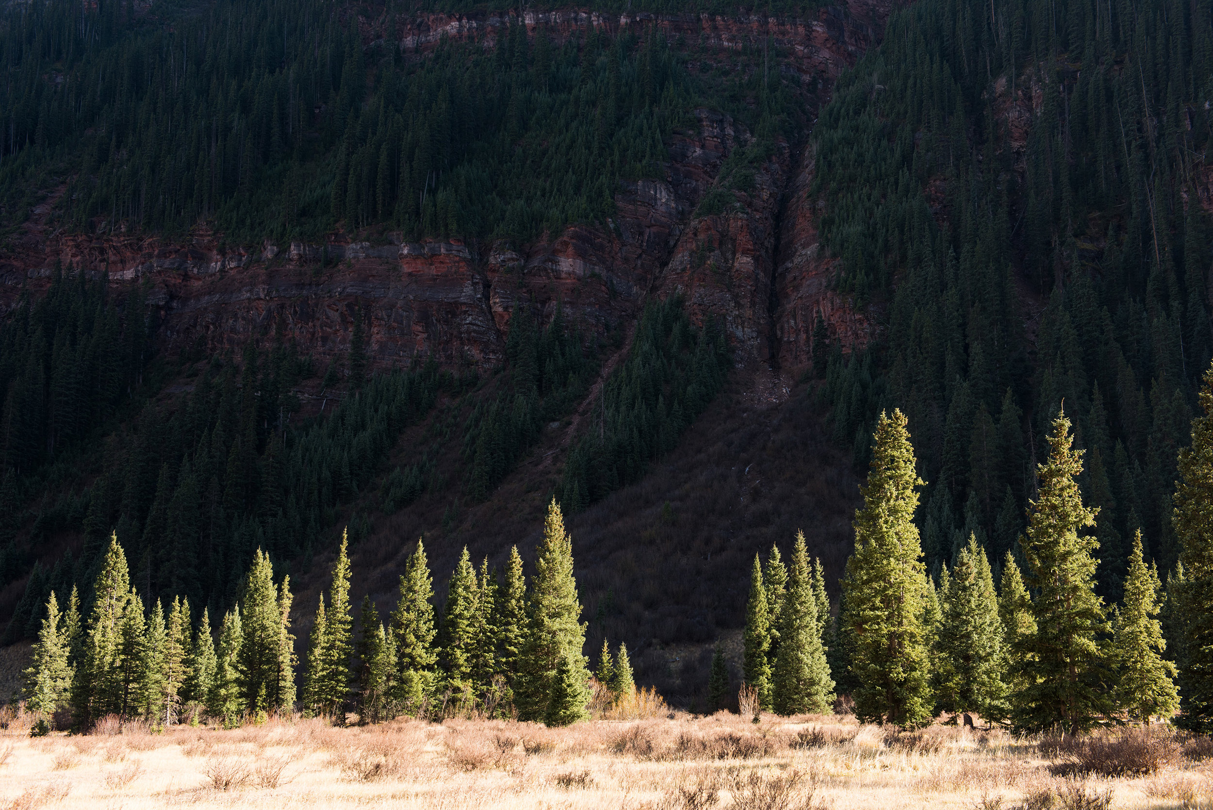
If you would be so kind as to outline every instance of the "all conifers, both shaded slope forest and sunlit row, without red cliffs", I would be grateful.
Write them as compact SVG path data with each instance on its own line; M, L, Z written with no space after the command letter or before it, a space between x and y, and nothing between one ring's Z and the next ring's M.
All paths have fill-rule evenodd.
M442 240L471 246L468 285L483 281L502 348L376 361L382 338L355 307L337 349L301 344L294 315L273 313L240 350L170 353L150 280L5 264L0 589L15 598L0 618L5 644L33 645L21 700L39 732L294 711L563 726L591 701L640 700L627 643L660 646L656 633L609 638L605 553L579 548L597 567L576 569L565 517L627 509L765 371L850 462L833 480L865 479L833 491L853 544L831 560L805 513L808 534L752 566L745 549L712 594L731 618L680 639L714 645L695 711L735 706L740 688L756 718L838 706L900 729L976 714L1016 734L1213 731L1211 0L917 0L827 90L774 36L713 64L706 40L657 22L569 33L502 4L371 5L0 10L0 258L25 250L52 196L57 230L98 243ZM491 41L398 45L428 12L500 24ZM705 110L733 153L676 178L680 155L707 150ZM797 160L799 190L780 162ZM671 204L680 224L636 247L620 189L676 179L696 188ZM796 194L815 212L811 250L780 244ZM490 295L501 245L526 253L577 227L673 267L690 223L734 250L775 234L769 295L754 285L773 324L780 257L814 256L826 278L803 366L745 343L740 307L719 303L740 298L723 251L691 269L728 296L664 266L632 292L597 270L526 286L526 259L508 303ZM334 264L321 252L303 269L354 272ZM606 303L586 303L591 281ZM525 561L491 525L475 530L492 554L443 547L457 561L437 587L429 535L361 552L418 504L443 504L442 542L523 495L545 504ZM667 501L661 526L677 520ZM637 535L623 542L656 530ZM372 588L388 569L385 610ZM582 615L590 591L598 610ZM656 614L660 594L643 601ZM593 657L587 637L603 640Z

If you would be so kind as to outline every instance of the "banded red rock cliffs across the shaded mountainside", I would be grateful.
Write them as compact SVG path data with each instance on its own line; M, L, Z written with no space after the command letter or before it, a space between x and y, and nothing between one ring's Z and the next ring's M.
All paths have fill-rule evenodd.
M833 79L875 41L888 0L856 0L811 19L729 18L707 15L625 15L605 18L577 10L526 12L528 29L581 35L590 25L619 32L660 27L668 38L712 49L759 46L767 36L791 53L785 70L799 74L808 120ZM418 15L393 36L425 52L442 36L491 46L505 19L494 16ZM695 110L695 125L670 143L665 177L622 183L608 227L575 226L535 244L385 244L330 236L325 245L221 246L216 235L183 241L132 234L50 232L47 215L63 189L35 209L21 234L0 245L0 302L12 306L22 284L45 286L56 264L109 273L119 295L148 285L159 308L161 346L170 353L205 347L235 349L280 324L320 361L343 354L355 312L368 316L377 365L433 355L448 365L500 364L509 316L535 302L545 316L562 306L583 330L636 318L645 296L682 292L696 320L723 319L742 361L808 363L814 313L820 310L843 346L859 346L871 326L830 290L831 262L816 247L820 215L808 196L813 160L779 143L756 167L738 205L694 216L724 159L751 141L728 116ZM802 133L807 139L808 132ZM804 152L803 149L801 152Z

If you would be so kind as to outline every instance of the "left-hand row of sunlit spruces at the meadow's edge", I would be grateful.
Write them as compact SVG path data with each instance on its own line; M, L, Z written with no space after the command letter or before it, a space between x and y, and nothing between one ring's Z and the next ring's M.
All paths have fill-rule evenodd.
M296 709L337 723L348 711L360 723L473 709L548 725L586 717L585 624L556 501L529 583L517 547L500 574L488 560L477 570L465 549L435 610L417 541L391 615L381 617L368 595L355 623L351 581L343 536L300 664L290 576L275 577L269 554L254 553L239 600L215 635L209 610L192 620L188 598L144 605L113 535L87 621L76 589L63 608L53 592L47 599L25 672L27 705L41 714L35 731L87 731L107 715L159 726L210 717L233 726ZM613 695L631 694L627 648L613 657L604 645L598 675Z

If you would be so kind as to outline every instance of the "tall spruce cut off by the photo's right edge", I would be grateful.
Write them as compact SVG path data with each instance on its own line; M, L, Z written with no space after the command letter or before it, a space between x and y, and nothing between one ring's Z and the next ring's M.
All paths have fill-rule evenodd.
M1202 416L1192 420L1192 444L1179 451L1172 523L1183 565L1186 666L1179 673L1184 713L1175 723L1213 731L1213 367L1200 392Z

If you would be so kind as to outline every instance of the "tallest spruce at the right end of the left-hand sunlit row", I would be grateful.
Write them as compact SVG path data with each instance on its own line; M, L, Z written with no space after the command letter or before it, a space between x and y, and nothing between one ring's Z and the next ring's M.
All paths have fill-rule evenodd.
M590 672L581 648L586 627L573 578L573 541L556 500L548 506L543 544L535 561L530 623L514 685L518 718L558 719L564 725L585 717Z

